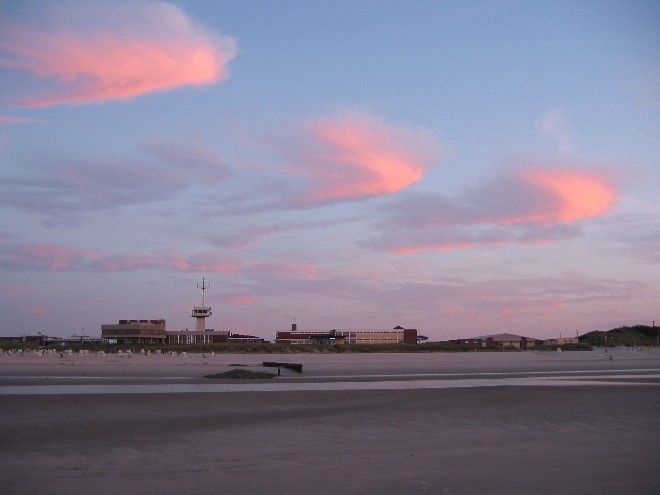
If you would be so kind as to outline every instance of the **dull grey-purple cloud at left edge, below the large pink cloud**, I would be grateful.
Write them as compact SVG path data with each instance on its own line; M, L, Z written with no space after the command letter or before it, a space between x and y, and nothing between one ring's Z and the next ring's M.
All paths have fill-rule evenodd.
M150 140L140 158L37 158L31 174L3 178L0 204L60 217L164 199L195 184L217 184L229 170L210 149Z

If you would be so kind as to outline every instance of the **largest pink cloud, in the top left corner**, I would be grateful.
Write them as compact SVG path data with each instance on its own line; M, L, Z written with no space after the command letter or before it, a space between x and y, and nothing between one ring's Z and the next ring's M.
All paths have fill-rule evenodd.
M42 13L43 14L43 13ZM165 2L62 4L47 27L3 24L0 64L52 81L27 106L133 98L228 77L233 39Z

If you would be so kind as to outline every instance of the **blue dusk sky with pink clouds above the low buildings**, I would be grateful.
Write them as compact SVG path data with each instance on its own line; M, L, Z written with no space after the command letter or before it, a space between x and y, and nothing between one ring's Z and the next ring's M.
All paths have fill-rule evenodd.
M660 324L660 4L0 2L0 335Z

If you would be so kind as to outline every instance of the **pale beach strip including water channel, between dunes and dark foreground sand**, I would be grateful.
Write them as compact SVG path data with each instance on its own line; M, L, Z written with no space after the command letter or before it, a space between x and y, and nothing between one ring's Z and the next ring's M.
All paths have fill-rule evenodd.
M265 367L265 361L289 362L302 365L302 373L282 367L280 375L265 385L277 389L276 383L334 383L334 382L397 382L406 381L408 387L433 388L448 386L430 381L479 380L492 386L493 380L519 379L549 380L578 379L605 380L617 375L634 376L644 373L651 379L660 373L660 353L625 351L601 354L597 351L579 353L399 353L399 354L169 354L133 355L113 354L24 354L0 357L0 393L10 393L18 386L106 386L106 385L221 385L246 384L264 380L236 380L207 378L206 375L224 373L232 369L277 373ZM631 378L632 379L632 378ZM512 381L513 380L513 381ZM271 382L271 380L266 380ZM639 380L638 380L639 381ZM417 384L413 382L419 382ZM425 382L426 385L422 382ZM475 382L476 383L476 382ZM384 385L383 385L384 386ZM388 385L391 386L391 385ZM475 385L476 386L476 385ZM358 387L356 385L356 387ZM212 388L212 387L211 387ZM244 387L246 388L246 387ZM249 389L247 387L246 389ZM18 390L18 389L15 389ZM107 389L109 390L109 389Z

